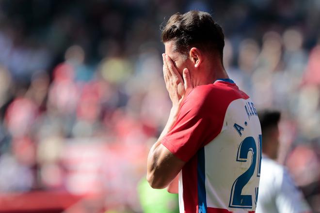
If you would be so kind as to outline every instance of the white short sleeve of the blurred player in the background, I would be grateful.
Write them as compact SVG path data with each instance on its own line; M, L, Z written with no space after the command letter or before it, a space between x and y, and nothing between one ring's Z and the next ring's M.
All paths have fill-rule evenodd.
M280 191L276 196L275 202L279 212L301 213L310 210L303 194L295 186L286 169L284 170Z

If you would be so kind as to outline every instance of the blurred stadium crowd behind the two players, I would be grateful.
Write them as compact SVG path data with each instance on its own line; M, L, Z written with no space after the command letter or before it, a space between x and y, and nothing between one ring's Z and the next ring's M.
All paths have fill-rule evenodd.
M0 0L0 212L143 211L171 108L160 25L191 9L223 27L256 107L281 110L278 161L320 212L319 0Z

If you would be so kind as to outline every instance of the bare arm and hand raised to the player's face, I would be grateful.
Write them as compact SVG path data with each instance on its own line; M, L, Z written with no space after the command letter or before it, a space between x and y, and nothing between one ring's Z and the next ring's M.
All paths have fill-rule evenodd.
M169 64L169 65L168 65ZM168 122L164 127L159 139L152 146L147 159L147 181L153 188L165 188L171 183L180 172L185 162L177 158L165 146L161 144L163 137L171 130L176 122L181 101L185 91L192 89L190 75L187 69L180 76L169 57L163 55L163 75L173 103ZM181 90L181 84L183 90ZM178 89L179 88L179 89ZM182 91L182 93L181 93Z

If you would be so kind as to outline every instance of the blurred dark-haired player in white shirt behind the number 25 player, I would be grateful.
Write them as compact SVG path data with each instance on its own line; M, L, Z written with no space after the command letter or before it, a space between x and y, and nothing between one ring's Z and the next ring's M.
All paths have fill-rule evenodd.
M309 213L310 209L302 193L296 188L288 171L278 164L280 112L259 111L263 145L261 179L257 213Z

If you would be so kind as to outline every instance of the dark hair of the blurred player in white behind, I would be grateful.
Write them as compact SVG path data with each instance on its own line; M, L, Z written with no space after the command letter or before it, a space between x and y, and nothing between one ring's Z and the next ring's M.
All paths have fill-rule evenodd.
M281 113L278 110L265 109L262 111L258 111L258 117L263 134L264 132L268 132L271 128L278 126Z

